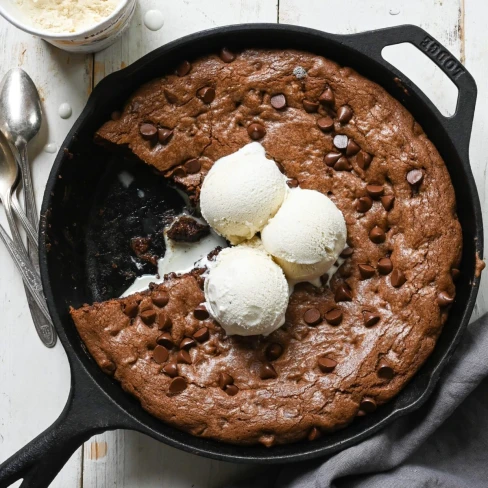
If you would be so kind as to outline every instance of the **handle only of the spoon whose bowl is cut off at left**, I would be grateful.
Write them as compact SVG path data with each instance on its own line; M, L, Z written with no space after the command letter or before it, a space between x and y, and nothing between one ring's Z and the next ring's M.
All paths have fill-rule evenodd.
M44 295L42 293L41 279L39 278L36 269L34 268L33 264L26 254L22 239L20 237L17 225L12 214L11 195L7 195L5 198L3 198L3 203L5 207L7 221L12 232L12 239L5 232L5 229L1 225L0 238L5 243L10 255L14 260L14 263L17 265L17 268L22 274L24 284L30 296L33 298L33 301L37 305L39 311L44 316L42 317L43 320L41 321L34 320L34 325L36 326L39 338L47 347L53 347L56 344L56 332L54 330L51 316L46 305L46 299L44 298Z

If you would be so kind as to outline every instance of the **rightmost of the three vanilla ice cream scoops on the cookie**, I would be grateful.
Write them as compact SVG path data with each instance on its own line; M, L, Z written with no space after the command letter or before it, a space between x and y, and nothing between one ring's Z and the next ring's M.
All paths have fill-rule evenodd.
M264 249L295 283L319 285L346 245L342 212L322 193L296 188L261 232Z

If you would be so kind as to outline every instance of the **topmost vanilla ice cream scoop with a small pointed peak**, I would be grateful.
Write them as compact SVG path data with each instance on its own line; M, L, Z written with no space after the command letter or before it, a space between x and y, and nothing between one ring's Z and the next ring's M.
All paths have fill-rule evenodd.
M212 166L203 181L205 220L232 244L260 232L283 203L288 187L263 146L252 142Z

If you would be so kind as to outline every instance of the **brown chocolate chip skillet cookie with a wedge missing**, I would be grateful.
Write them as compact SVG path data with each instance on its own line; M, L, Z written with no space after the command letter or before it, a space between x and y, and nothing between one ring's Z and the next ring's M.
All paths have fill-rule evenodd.
M100 367L161 420L266 446L320 435L395 396L434 348L459 274L447 169L407 110L310 53L223 50L142 86L96 134L184 188L257 140L290 178L343 212L344 264L296 286L269 337L226 336L201 305L202 271L71 310ZM311 209L313 211L313 209Z

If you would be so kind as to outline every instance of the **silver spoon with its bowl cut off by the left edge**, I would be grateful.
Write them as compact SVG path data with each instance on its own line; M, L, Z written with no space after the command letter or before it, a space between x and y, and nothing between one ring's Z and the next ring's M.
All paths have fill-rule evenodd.
M46 299L42 293L42 283L37 270L27 256L12 213L12 196L18 184L18 177L19 167L10 150L7 139L0 132L0 200L4 205L5 214L12 233L11 239L5 232L5 229L0 225L0 239L7 246L10 255L22 274L26 291L28 292L27 296L38 307L36 311L43 315L42 320L38 322L34 321L37 333L47 347L53 347L56 344L56 332L51 322Z

